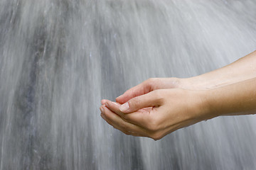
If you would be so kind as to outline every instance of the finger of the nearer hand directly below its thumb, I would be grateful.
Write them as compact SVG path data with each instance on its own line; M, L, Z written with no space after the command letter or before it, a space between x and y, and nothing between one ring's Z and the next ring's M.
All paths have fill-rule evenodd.
M150 112L153 111L153 108L145 108L144 110L125 114L119 110L119 107L121 106L119 103L106 101L105 104L107 108L110 109L110 111L119 115L122 118L122 120L132 123L134 125L139 125L140 127L143 127L143 128L146 127L146 125L148 125L149 116L151 116Z

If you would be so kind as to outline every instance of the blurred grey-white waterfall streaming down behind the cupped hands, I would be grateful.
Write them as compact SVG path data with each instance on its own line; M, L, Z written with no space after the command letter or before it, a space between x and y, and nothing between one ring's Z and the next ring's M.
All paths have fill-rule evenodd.
M99 111L149 77L255 49L255 0L0 0L0 169L255 169L253 115L155 142Z

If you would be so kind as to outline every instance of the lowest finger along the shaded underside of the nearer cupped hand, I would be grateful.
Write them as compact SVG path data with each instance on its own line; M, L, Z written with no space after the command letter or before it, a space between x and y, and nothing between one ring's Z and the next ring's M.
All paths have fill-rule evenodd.
M114 128L121 130L124 133L129 133L130 135L146 136L144 130L137 125L132 123L127 123L119 115L113 113L106 106L102 106L102 118L104 118L107 123L112 125Z

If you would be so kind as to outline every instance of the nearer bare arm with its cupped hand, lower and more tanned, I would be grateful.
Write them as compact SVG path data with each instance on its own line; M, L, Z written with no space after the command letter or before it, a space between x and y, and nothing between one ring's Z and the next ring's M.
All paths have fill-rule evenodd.
M180 128L218 117L256 113L256 78L215 89L160 89L122 106L105 100L102 118L127 135L159 140Z

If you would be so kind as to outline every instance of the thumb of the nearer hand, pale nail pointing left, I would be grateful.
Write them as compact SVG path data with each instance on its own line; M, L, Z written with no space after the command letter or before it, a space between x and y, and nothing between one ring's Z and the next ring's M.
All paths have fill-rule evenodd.
M122 113L132 113L142 108L159 106L162 102L163 96L160 95L159 90L156 90L130 99L127 103L122 104L119 110Z

